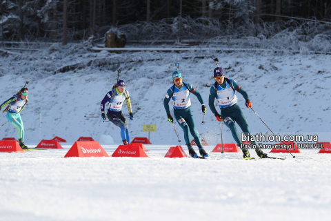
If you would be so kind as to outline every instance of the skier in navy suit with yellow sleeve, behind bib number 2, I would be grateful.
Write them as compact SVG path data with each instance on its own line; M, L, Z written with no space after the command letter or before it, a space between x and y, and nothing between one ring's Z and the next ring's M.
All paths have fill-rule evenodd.
M126 118L123 116L121 111L123 102L126 101L126 106L130 114L130 119L133 119L132 106L130 102L130 95L126 90L126 82L119 80L117 86L110 90L101 102L101 117L106 120L105 105L108 102L107 117L116 126L121 128L121 138L124 145L130 144L130 133Z

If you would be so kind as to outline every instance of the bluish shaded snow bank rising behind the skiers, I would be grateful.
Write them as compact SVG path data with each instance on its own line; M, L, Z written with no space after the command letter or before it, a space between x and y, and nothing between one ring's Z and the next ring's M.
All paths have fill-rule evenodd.
M183 81L193 84L208 106L210 86L214 83L212 70L216 64L209 56L218 57L225 76L235 79L250 95L252 107L277 134L317 134L320 141L330 137L330 55L289 55L270 52L127 52L112 54L90 52L79 45L61 47L57 44L39 52L20 51L1 55L0 102L4 102L30 81L29 103L22 113L26 143L41 139L63 137L74 142L81 136L101 140L110 135L115 144L121 143L119 128L101 118L87 119L84 115L100 116L99 104L117 80L127 83L130 91L134 120L128 119L131 137L147 137L143 124L157 124L157 132L150 133L153 144L174 144L177 137L163 108L165 92L172 86L171 74L179 62ZM205 57L205 58L201 58ZM184 59L185 58L185 59ZM90 62L93 61L93 62ZM100 66L101 62L111 61ZM90 62L90 63L89 63ZM56 73L64 66L81 64L81 68ZM87 65L88 64L88 65ZM268 128L249 108L240 94L243 109L253 133L268 132ZM172 104L170 102L170 107ZM217 107L217 110L219 108ZM197 131L210 145L221 141L219 123L210 109L203 114L192 95L192 112ZM128 110L123 106L128 117ZM2 114L1 124L6 122ZM183 132L177 131L182 137ZM10 124L0 128L0 138L16 137L17 129ZM191 136L192 139L192 136ZM234 142L228 128L223 126L224 142ZM177 142L178 143L178 142Z

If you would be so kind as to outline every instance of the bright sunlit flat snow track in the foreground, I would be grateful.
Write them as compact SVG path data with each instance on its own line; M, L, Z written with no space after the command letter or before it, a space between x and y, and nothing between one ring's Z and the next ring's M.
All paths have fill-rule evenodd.
M198 160L164 158L170 145L146 145L149 158L63 158L71 145L62 146L1 153L0 220L329 218L330 155L317 149L241 160L206 146L210 160ZM118 145L102 146L112 155Z

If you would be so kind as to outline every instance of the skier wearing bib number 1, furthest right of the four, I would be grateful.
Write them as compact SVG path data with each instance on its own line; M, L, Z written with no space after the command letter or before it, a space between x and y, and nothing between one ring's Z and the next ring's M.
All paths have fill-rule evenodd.
M224 120L225 125L230 128L234 140L239 146L241 146L242 142L240 140L235 123L237 122L245 135L247 135L247 133L251 133L245 115L243 115L241 108L237 104L236 91L243 95L246 107L252 107L252 102L250 102L248 93L246 93L246 91L243 90L241 86L239 86L237 81L225 78L224 71L221 67L217 67L214 69L214 79L216 80L216 82L210 87L210 109L219 122ZM221 115L217 113L216 108L214 107L214 99L217 99L219 108L221 109ZM257 155L259 157L268 158L268 155L261 151L261 148L259 148L257 142L251 141L250 143L257 145L255 151L257 152ZM250 157L250 153L248 152L247 148L241 148L241 150L243 151L244 158Z

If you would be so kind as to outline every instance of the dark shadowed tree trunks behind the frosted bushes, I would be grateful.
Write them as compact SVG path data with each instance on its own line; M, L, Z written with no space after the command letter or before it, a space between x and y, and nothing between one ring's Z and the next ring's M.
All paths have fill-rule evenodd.
M246 21L257 25L291 19L330 21L331 0L1 0L0 17L3 41L66 44L101 38L109 28L130 23L181 24L181 17L203 25L216 20L236 26Z

